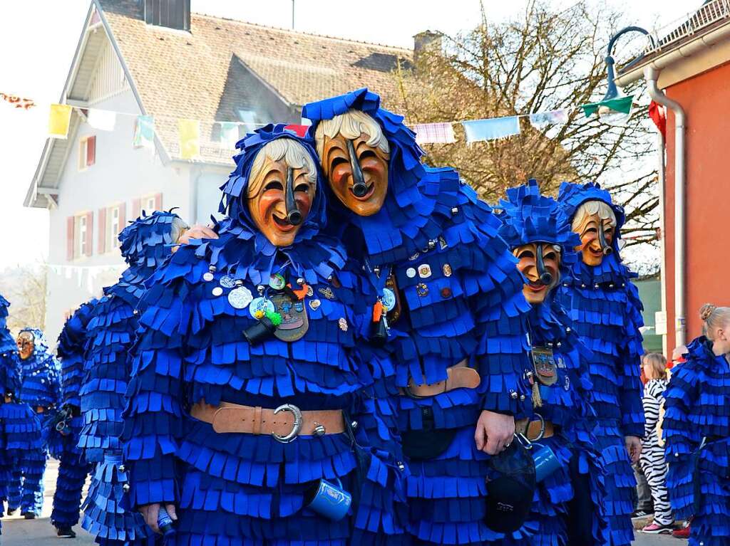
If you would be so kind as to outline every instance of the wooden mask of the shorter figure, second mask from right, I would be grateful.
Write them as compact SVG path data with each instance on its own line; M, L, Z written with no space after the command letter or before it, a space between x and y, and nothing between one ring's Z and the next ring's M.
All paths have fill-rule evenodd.
M527 279L522 293L531 305L545 301L560 278L560 252L550 243L529 243L512 250L518 270Z

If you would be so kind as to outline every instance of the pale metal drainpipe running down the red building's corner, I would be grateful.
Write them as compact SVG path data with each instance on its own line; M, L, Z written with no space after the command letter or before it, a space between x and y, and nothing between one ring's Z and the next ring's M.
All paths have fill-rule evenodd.
M687 323L685 315L685 112L659 89L659 71L651 66L644 69L649 96L675 113L675 343L685 345ZM664 214L664 211L662 211Z

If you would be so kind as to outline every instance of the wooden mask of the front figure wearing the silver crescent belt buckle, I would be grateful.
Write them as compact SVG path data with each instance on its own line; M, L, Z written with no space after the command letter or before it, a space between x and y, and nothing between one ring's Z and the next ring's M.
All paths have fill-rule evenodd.
M272 244L291 246L310 214L316 191L316 179L306 166L291 168L285 157L278 161L266 157L248 184L248 210Z

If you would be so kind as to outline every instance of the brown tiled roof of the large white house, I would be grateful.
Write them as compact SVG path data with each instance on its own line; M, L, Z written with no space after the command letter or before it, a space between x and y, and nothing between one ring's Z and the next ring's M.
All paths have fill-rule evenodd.
M99 0L112 35L158 134L176 157L175 118L231 120L242 67L253 71L283 101L302 104L369 87L383 96L397 93L393 70L410 66L412 51L354 42L237 20L191 14L191 32L150 26L133 0ZM231 91L233 89L233 91ZM240 91L241 93L244 90ZM234 97L231 98L231 93ZM226 107L227 105L227 107ZM264 120L278 121L278 120ZM284 120L289 121L289 120ZM202 133L211 133L202 127ZM207 147L207 160L228 163L229 150Z

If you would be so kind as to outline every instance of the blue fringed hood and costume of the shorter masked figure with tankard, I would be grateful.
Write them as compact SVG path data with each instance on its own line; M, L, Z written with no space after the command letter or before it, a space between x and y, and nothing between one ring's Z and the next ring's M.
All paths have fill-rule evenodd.
M504 224L499 233L512 249L538 242L558 246L559 274L569 274L577 261L573 249L580 244L580 238L562 221L556 200L540 195L537 181L530 180L526 185L507 190L507 200L502 200L500 206L503 210L500 219ZM537 419L539 415L557 427L556 436L539 443L553 449L561 469L538 484L525 532L537 531L521 542L559 546L568 541L568 526L575 523L570 521L575 515L569 510L569 502L574 498L576 486L569 472L569 462L577 457L578 473L588 475L591 486L592 542L585 544L602 546L608 543L609 537L603 503L604 469L593 437L596 416L591 407L593 384L588 375L588 362L593 354L580 342L570 326L570 319L552 293L546 295L542 304L532 306L528 324L531 345L553 351L557 380L552 385L538 382L539 405L529 400L520 417ZM537 375L532 377L538 381ZM531 386L526 385L526 389Z

